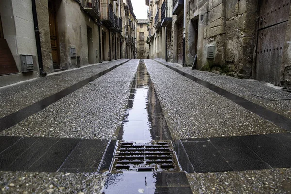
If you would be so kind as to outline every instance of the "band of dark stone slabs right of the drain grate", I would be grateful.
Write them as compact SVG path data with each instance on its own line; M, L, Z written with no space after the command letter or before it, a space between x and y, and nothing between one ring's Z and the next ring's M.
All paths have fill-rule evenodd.
M291 167L291 135L268 134L181 140L198 173Z

